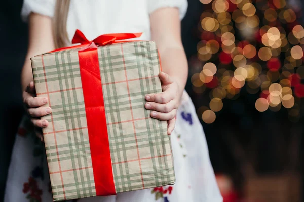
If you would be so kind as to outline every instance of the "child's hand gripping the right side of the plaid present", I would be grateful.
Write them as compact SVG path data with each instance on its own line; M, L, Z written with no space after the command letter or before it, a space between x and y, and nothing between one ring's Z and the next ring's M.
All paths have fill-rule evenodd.
M148 101L145 108L153 110L151 117L168 121L168 135L171 135L175 127L175 116L180 101L179 86L168 74L161 72L159 77L162 82L163 92L148 94L145 99Z

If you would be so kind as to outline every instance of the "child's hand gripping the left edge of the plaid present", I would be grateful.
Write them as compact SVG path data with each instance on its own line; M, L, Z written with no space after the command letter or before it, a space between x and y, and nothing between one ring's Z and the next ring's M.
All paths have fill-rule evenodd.
M45 128L49 125L49 122L40 119L40 117L50 114L52 109L50 107L42 107L48 103L48 99L46 97L35 97L35 93L35 85L34 82L31 81L23 91L23 103L25 104L26 111L30 115L34 126Z

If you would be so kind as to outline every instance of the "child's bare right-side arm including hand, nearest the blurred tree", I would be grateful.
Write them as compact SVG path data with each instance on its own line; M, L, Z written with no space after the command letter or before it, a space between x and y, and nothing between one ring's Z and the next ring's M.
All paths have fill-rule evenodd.
M183 93L188 65L180 36L180 19L177 8L161 8L150 15L151 37L157 43L162 68L160 73L163 92L146 96L147 109L155 110L151 116L168 120L168 134L175 126L176 111Z

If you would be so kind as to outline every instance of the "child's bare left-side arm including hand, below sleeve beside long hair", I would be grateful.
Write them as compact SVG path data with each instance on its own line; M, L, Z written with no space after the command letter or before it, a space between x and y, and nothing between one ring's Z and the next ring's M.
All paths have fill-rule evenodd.
M49 114L51 112L51 108L41 107L47 103L47 99L45 97L34 97L35 87L30 58L54 49L52 20L50 17L32 13L29 16L28 29L28 51L21 73L22 96L27 112L32 117L32 122L36 127L43 128L48 126L49 123L47 120L40 120L38 118Z

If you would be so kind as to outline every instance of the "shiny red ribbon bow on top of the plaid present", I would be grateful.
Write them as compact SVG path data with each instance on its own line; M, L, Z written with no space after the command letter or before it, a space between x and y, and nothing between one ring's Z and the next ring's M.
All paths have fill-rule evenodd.
M130 38L140 37L142 33L121 33L121 34L103 34L98 36L92 41L89 41L85 35L80 31L76 30L74 37L72 39L72 44L81 43L81 44L91 44L94 42L98 46L104 46L116 42L122 42L119 40L126 40Z

